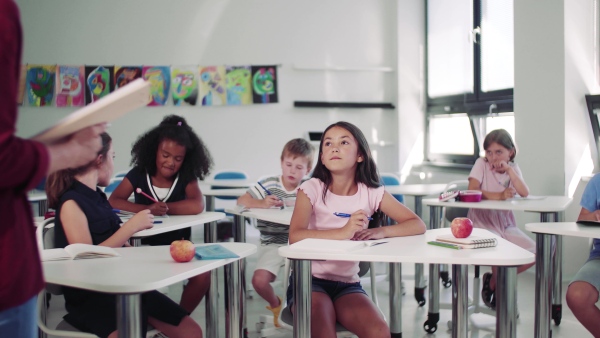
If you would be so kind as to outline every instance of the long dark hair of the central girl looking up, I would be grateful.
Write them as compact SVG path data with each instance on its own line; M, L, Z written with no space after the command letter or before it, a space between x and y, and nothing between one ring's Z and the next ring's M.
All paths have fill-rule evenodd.
M356 172L354 173L354 181L357 183L363 183L369 188L377 188L381 186L379 181L379 173L377 172L377 166L375 165L375 161L373 160L373 156L371 155L371 149L369 148L369 143L365 138L365 135L362 133L358 127L349 122L339 121L336 122L323 132L321 135L321 143L319 144L319 158L317 160L317 164L315 166L315 170L313 172L312 177L318 178L325 184L323 188L323 202L325 201L325 195L327 195L327 191L329 190L329 186L331 185L331 172L325 165L323 161L321 161L321 155L323 154L323 139L325 138L325 134L327 131L333 127L340 127L346 129L358 143L358 152L363 157L362 162L358 162L356 167Z

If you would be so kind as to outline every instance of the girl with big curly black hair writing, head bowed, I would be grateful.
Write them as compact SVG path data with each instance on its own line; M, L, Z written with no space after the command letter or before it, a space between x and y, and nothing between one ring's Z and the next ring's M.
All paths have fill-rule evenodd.
M166 116L157 126L138 138L131 150L134 166L110 195L113 208L138 212L149 209L153 215L196 215L204 210L198 186L209 173L212 158L198 135L180 116ZM136 191L140 188L152 201ZM134 194L135 203L129 202ZM191 237L185 228L150 236L143 244L171 245ZM180 305L189 313L198 306L210 287L210 273L189 279Z

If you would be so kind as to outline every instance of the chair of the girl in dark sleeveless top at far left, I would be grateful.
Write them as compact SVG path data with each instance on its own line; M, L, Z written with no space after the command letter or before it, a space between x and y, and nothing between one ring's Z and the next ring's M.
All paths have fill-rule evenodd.
M54 248L54 217L44 220L42 224L37 227L36 230L36 241L39 250L53 249ZM62 287L56 284L46 284L46 287L39 293L37 299L37 324L41 330L39 336L46 338L48 335L58 337L77 337L77 338L98 338L95 334L81 332L71 324L62 320L55 329L51 329L46 325L47 308L49 304L46 301L46 295L50 293L53 295L62 295ZM156 329L148 329L146 337L154 337L159 333Z

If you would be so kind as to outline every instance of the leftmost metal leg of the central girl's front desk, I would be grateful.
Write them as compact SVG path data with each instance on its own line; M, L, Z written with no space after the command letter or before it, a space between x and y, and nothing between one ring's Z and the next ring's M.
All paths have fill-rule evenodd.
M312 272L310 261L291 259L294 278L294 338L310 338Z

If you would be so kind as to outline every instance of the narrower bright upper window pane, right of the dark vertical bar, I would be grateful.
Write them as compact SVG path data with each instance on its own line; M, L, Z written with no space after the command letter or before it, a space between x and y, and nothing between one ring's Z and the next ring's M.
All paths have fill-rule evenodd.
M481 1L481 91L514 87L513 0Z

